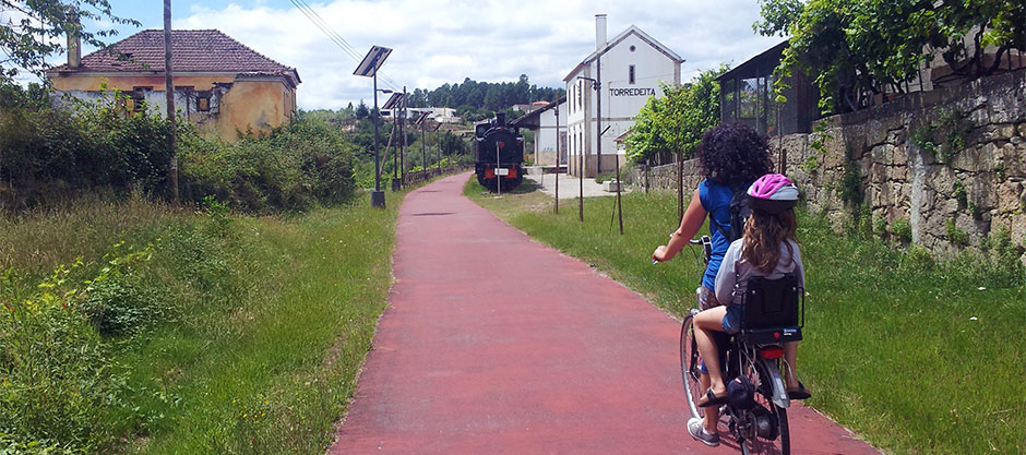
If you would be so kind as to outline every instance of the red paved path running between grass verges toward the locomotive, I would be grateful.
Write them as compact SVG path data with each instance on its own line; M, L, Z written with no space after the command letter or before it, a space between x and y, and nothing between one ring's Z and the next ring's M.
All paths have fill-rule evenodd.
M687 434L679 323L462 196L466 180L399 208L391 308L331 453L738 453ZM790 422L795 453L876 453L808 408Z

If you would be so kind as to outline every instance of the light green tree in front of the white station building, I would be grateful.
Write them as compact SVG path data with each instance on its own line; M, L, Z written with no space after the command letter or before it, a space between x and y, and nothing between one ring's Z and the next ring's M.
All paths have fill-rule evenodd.
M715 79L727 69L720 65L704 71L679 87L664 85L666 96L649 97L625 139L628 158L644 163L670 153L692 156L702 134L719 124L719 83Z

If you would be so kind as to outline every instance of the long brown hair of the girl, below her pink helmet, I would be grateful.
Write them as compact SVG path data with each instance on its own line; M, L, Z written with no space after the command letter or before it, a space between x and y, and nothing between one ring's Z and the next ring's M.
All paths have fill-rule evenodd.
M752 216L744 221L744 248L741 250L741 258L762 273L770 274L780 260L780 243L788 239L797 243L798 239L795 237L797 230L798 220L795 218L794 208L775 215L752 211ZM789 242L784 244L794 261L795 251L791 244Z

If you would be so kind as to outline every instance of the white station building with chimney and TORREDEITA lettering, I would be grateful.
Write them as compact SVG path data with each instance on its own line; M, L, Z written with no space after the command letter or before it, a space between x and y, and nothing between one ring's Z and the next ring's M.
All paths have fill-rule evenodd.
M595 177L611 172L618 159L622 165L615 139L634 125L649 96L664 96L661 84L680 85L683 61L633 25L607 40L606 15L596 14L595 52L563 79L566 117L560 122L566 124L570 173Z

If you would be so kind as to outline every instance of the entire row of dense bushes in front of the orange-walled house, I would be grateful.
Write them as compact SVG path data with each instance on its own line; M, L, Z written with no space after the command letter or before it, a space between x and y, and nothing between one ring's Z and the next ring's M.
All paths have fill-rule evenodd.
M168 194L171 127L152 109L129 111L112 91L95 101L0 87L0 209L22 211L81 192ZM354 195L358 147L325 119L298 112L269 134L226 143L179 121L181 197L214 195L249 212L308 209Z

